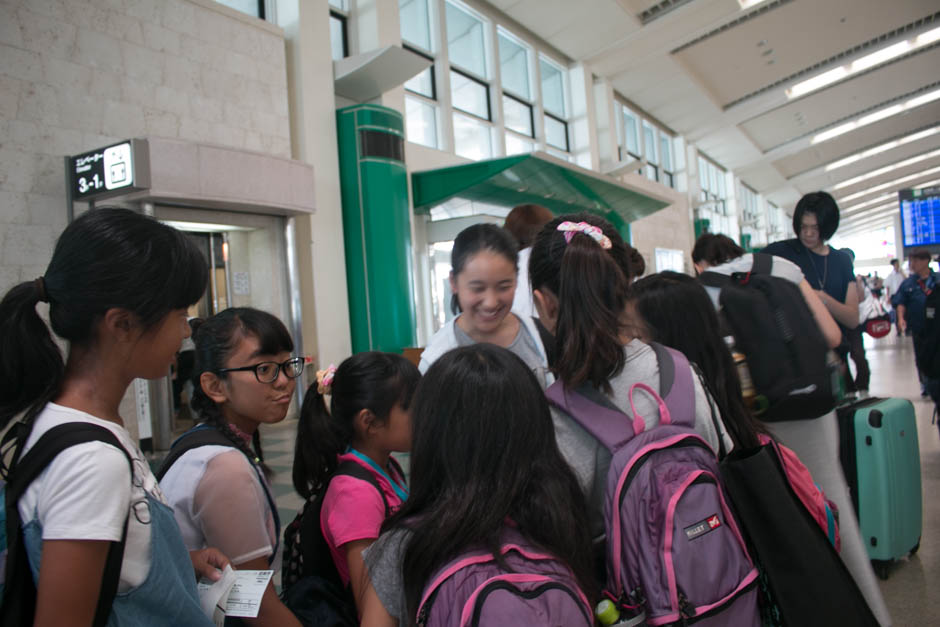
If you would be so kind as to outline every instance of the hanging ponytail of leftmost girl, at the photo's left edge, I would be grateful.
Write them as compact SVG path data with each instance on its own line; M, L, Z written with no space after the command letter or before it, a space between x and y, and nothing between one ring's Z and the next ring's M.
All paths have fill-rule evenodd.
M48 300L39 278L20 283L0 301L0 429L20 412L41 408L62 384L62 352L36 311Z

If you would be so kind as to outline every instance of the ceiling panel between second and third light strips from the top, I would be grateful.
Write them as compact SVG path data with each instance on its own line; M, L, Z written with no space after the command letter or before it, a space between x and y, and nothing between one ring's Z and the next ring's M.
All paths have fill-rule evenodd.
M780 169L781 174L790 178L800 172L824 166L895 139L903 139L920 129L937 125L940 125L940 101L810 146L794 155L775 161L774 165ZM931 139L934 148L940 147L940 134L934 135ZM930 145L929 141L927 143Z

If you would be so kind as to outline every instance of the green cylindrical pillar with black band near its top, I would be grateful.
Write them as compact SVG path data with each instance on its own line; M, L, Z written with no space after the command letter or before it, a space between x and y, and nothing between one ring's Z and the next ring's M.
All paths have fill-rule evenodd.
M399 112L336 112L349 317L354 352L414 346L412 245Z

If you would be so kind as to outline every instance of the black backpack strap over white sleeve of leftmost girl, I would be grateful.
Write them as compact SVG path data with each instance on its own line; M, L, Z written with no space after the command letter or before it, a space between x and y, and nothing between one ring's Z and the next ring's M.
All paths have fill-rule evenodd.
M10 471L4 503L7 516L6 532L8 542L5 567L6 583L3 604L0 606L2 607L4 624L30 625L33 622L36 610L36 586L33 583L29 558L26 554L18 507L20 497L59 453L77 444L96 441L110 444L124 453L130 466L131 480L133 481L134 461L117 436L105 427L87 422L69 422L49 429L42 434L39 440L17 461ZM93 623L95 627L105 625L111 615L111 606L114 603L114 596L117 594L118 583L121 578L121 565L124 561L124 546L127 540L129 518L130 512L128 512L128 519L124 521L124 532L121 535L121 540L111 542L108 548L108 556L101 578L101 590L98 593L98 604L95 608Z

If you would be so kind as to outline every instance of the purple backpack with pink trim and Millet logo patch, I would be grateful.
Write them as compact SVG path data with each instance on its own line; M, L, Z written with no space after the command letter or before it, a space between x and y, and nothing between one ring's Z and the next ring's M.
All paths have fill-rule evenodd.
M721 487L714 451L694 430L692 369L681 353L652 344L660 396L630 388L633 416L593 390L546 390L549 400L597 438L613 458L607 474L607 592L649 625L758 626L757 569ZM659 406L646 429L633 406L642 390ZM597 398L597 402L588 399Z

